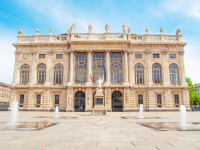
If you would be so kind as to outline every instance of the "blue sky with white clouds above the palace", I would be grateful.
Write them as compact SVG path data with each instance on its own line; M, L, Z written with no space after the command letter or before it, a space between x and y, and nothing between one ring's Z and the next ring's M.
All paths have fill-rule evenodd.
M133 34L175 34L181 29L185 47L186 75L200 82L200 0L1 0L0 5L0 82L12 83L14 51L12 43L22 28L24 35L66 33L72 23L76 32L122 32L122 24Z

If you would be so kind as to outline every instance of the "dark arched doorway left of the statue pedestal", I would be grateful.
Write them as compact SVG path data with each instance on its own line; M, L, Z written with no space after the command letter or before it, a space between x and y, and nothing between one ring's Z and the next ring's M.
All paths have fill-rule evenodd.
M75 94L75 112L84 112L85 111L85 93L79 91Z

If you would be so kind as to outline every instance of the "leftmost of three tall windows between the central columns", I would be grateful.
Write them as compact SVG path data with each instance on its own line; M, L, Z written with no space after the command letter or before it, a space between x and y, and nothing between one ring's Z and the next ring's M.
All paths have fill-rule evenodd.
M75 66L75 82L85 83L87 81L87 55L77 53Z

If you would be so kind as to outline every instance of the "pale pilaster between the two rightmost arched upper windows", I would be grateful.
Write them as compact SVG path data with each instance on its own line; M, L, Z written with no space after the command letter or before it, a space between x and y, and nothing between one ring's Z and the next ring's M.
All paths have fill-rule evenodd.
M167 51L163 50L162 51L162 61L163 61L163 85L164 86L169 86L170 85L170 79L169 79L169 64L167 60Z

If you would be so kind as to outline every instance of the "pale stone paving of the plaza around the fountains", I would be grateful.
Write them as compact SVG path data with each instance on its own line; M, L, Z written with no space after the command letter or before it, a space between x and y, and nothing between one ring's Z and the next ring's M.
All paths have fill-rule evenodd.
M156 131L142 122L179 122L179 112L144 112L160 119L123 119L138 117L138 112L90 113L60 112L68 119L38 118L54 112L19 112L18 122L47 120L58 123L37 131L0 130L1 150L134 150L200 149L200 131ZM70 118L70 117L76 118ZM187 122L200 122L200 112L187 112ZM9 122L10 112L0 112L0 122Z

